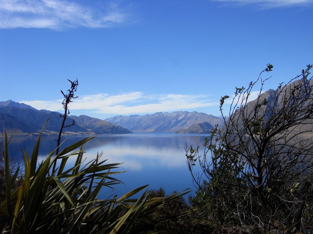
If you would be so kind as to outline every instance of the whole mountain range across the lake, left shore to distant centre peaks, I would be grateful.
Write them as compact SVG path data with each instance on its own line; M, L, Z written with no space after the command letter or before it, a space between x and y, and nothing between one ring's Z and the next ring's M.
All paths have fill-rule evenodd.
M30 105L12 100L0 101L0 136L4 130L15 136L43 134L54 135L59 133L62 124L62 115L49 110L37 110ZM215 124L223 126L223 120L213 115L196 111L157 112L152 115L117 115L105 120L96 119L87 115L70 115L65 125L75 124L63 130L64 135L84 134L124 134L134 132L176 132L176 133L209 133Z

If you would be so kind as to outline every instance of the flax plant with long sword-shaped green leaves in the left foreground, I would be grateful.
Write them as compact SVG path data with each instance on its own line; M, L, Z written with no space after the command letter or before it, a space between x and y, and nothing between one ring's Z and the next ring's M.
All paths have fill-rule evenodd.
M9 171L8 137L5 133L4 177L6 197L0 205L1 233L130 233L141 217L189 191L183 190L167 197L148 199L143 192L148 185L136 188L122 197L100 199L101 188L112 188L121 183L114 178L123 173L120 163L106 163L101 154L83 164L84 144L94 137L82 139L55 155L55 150L38 163L41 134L34 145L31 157L23 151L24 172ZM77 150L79 149L79 150ZM67 165L69 157L76 157L74 165ZM59 167L52 170L54 162ZM13 186L17 185L17 186ZM15 188L15 189L13 189Z

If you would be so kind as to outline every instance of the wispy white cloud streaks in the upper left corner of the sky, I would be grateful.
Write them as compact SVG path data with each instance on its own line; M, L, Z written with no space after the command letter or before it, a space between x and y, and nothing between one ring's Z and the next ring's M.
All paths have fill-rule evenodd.
M0 0L0 28L112 27L128 17L113 2L96 8L66 0Z

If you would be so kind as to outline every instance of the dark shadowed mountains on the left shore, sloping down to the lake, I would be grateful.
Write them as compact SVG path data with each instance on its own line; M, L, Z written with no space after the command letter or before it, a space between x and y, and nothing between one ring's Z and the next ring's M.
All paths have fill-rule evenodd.
M38 134L49 118L48 123L44 127L43 134L58 134L62 124L60 113L48 110L37 110L23 103L13 102L12 100L0 102L0 135L4 134L6 129L8 133L14 135L35 135ZM106 133L131 133L127 129L120 126L110 124L101 119L93 119L93 124L80 119L85 117L73 116L75 123L69 128L64 128L63 133L67 135L83 135L83 134L106 134ZM71 124L72 117L68 117L65 125Z

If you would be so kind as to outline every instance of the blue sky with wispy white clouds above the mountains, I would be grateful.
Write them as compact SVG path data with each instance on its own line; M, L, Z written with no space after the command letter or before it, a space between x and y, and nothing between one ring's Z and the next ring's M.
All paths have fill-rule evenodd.
M313 0L0 0L0 100L70 114L220 115L267 63L275 89L313 63ZM257 89L256 89L257 90Z

